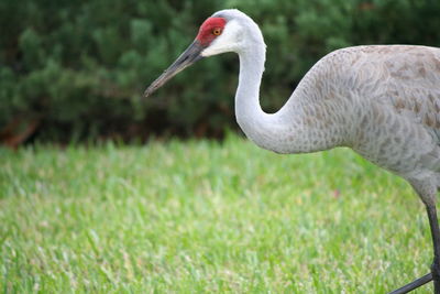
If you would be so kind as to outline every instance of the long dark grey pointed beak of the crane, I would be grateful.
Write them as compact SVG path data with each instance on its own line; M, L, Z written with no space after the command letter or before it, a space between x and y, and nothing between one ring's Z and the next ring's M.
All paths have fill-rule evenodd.
M156 79L148 88L144 91L143 97L146 98L152 95L156 89L161 88L172 77L190 66L195 62L202 58L200 53L204 51L204 46L199 41L194 41L189 47L182 53L182 55Z

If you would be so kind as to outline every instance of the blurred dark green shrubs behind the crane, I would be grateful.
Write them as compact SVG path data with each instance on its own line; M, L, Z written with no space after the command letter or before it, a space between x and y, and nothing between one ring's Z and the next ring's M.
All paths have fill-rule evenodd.
M336 48L440 46L438 0L2 0L1 143L221 139L237 130L234 54L204 59L141 99L201 22L226 8L248 13L263 31L268 112Z

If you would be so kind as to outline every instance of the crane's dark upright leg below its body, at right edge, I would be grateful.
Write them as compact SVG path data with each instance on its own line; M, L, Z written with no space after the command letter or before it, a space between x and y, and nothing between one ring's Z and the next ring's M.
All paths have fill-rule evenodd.
M427 202L425 205L428 213L429 226L431 227L431 237L433 243L433 262L431 265L433 288L436 294L440 294L440 229L439 221L437 219L437 208L433 202Z

